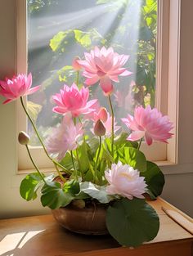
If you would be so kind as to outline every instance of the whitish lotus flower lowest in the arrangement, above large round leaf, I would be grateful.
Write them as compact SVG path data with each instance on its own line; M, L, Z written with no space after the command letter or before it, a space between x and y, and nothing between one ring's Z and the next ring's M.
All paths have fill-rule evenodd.
M133 196L144 198L146 182L140 173L128 164L112 164L111 169L105 171L105 178L109 182L106 192L110 195L122 195L132 200Z

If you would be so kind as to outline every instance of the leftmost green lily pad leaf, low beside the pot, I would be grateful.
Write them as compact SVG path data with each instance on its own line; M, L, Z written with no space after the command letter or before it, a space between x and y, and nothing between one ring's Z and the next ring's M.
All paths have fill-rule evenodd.
M20 195L27 201L34 200L37 198L38 188L42 185L43 180L39 174L30 173L20 183Z

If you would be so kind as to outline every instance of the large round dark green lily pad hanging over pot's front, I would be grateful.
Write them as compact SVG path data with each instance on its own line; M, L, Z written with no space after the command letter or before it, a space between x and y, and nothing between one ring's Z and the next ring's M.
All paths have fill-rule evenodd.
M159 217L145 200L124 198L107 209L106 227L120 245L136 247L157 236Z

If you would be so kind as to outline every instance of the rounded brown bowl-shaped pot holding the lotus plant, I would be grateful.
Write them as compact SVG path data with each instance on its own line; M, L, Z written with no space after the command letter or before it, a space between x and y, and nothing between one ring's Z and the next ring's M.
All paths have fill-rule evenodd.
M62 227L85 235L105 235L106 207L103 204L90 204L83 209L73 205L52 209L52 214Z

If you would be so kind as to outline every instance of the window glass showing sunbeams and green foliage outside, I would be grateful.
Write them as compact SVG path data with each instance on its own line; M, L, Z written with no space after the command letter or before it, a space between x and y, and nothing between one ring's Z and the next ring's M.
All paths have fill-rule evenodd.
M61 120L52 112L52 95L76 81L74 56L83 57L96 45L130 56L124 66L133 74L114 83L118 123L135 106L155 106L156 32L156 0L28 0L28 70L34 86L42 85L28 97L28 107L42 137ZM108 108L101 88L90 89ZM37 146L30 124L28 129Z

